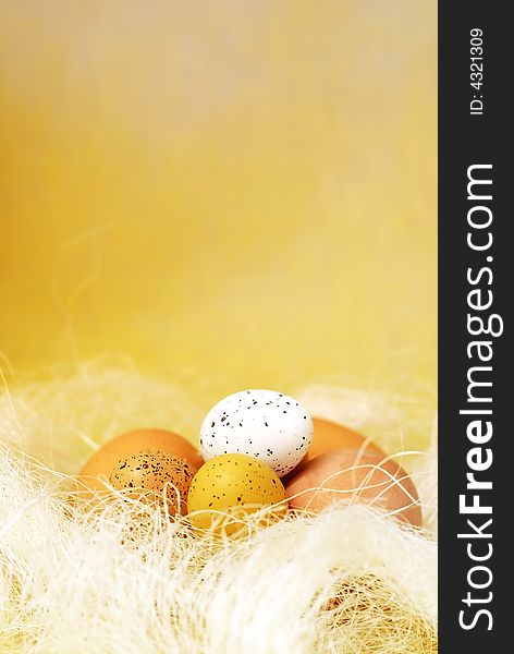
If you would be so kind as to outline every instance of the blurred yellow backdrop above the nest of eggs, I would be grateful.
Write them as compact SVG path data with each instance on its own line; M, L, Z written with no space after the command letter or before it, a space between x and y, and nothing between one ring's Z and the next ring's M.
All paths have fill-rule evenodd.
M0 2L0 350L436 384L437 3Z

